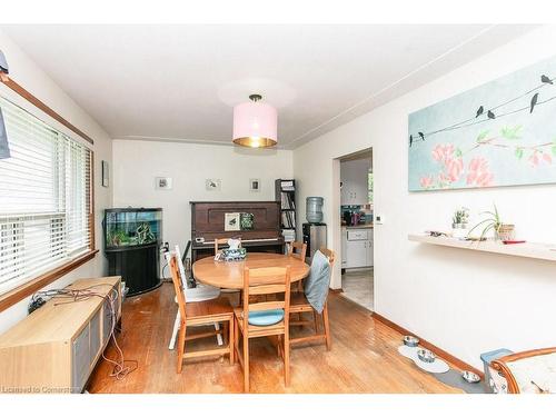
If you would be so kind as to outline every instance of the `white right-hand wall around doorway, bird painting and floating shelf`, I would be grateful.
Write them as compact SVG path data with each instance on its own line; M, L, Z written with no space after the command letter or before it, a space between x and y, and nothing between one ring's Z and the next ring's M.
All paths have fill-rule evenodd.
M375 227L376 310L477 367L490 349L556 346L556 264L427 247L407 235L449 228L459 206L477 212L496 201L517 236L556 242L556 185L409 193L407 118L553 56L555 42L556 27L540 28L294 151L299 202L325 197L328 239L339 251L334 158L373 147L375 214L385 220ZM340 286L337 267L332 287Z

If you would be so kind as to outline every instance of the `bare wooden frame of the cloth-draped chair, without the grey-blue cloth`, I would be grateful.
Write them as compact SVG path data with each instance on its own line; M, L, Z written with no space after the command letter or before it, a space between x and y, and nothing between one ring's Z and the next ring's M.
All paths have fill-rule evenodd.
M332 272L334 269L334 261L336 259L336 255L334 254L332 250L327 249L327 248L320 248L320 252L322 252L324 256L328 258L328 262L330 264L330 274ZM325 301L325 308L322 309L321 317L322 317L322 327L324 331L319 332L319 325L318 325L318 316L319 314L312 308L310 302L307 300L306 296L304 292L296 292L291 296L291 302L290 302L290 308L289 308L290 314L302 314L302 312L312 312L312 327L315 330L314 335L310 336L302 336L302 337L296 337L296 338L290 338L290 345L295 346L298 344L302 344L306 341L324 341L326 342L326 348L327 350L330 350L332 348L332 340L330 337L330 322L328 319L328 300ZM307 326L311 325L309 320L296 320L296 321L290 321L291 326Z

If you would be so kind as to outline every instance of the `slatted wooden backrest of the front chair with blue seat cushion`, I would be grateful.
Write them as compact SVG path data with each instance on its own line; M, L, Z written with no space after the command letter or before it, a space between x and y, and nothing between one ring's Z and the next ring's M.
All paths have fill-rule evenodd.
M289 300L290 300L291 268L269 267L244 269L244 320L248 322L249 311L266 311L284 309L284 324L289 326ZM251 301L249 296L267 296L284 294L282 299L271 301ZM246 329L249 326L246 326ZM248 330L246 330L248 331Z

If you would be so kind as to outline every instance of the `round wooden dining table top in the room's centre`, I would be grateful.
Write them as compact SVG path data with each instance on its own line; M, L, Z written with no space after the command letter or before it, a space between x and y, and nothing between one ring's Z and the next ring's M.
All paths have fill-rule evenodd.
M245 260L218 261L212 257L193 262L193 277L198 281L218 288L242 289L244 268L291 267L291 282L309 275L309 266L300 259L279 254L247 254Z

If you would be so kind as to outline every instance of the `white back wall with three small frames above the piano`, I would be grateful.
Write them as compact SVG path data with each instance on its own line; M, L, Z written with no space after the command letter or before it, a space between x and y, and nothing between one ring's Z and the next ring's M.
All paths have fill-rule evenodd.
M291 178L290 150L231 146L113 141L115 207L161 207L163 240L181 250L191 238L189 201L274 200L275 179ZM171 190L157 190L156 177L171 177ZM221 179L221 191L207 191L207 178ZM249 179L260 179L260 192Z

